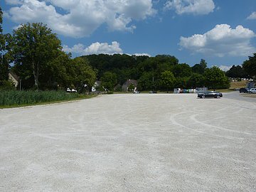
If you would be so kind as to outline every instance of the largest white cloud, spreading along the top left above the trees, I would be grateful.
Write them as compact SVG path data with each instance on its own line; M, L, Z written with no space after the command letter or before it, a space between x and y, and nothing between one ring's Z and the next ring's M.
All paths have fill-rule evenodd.
M90 36L107 23L110 31L133 31L134 20L156 14L151 0L6 0L16 23L43 22L65 36Z

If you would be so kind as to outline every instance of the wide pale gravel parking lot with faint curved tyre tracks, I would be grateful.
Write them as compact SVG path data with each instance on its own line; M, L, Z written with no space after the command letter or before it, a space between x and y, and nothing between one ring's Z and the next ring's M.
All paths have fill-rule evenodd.
M256 191L255 119L225 95L0 110L0 191Z

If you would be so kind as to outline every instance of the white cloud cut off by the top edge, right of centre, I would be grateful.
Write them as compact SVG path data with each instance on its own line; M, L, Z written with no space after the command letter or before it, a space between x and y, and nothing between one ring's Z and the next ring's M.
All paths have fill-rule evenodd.
M210 14L215 9L213 0L169 0L164 6L165 10L174 9L176 14Z

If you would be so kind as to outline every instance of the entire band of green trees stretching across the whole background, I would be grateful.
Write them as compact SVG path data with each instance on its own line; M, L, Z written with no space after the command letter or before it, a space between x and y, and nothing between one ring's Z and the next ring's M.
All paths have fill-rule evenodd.
M12 34L4 34L2 15L0 8L0 87L10 87L10 70L19 76L26 90L74 87L80 92L90 91L95 80L108 90L118 90L132 79L137 80L139 90L168 91L174 87L228 88L228 77L234 76L234 71L237 78L255 77L256 53L242 67L234 65L227 73L216 66L208 68L203 59L191 67L178 63L172 55L100 54L72 58L63 52L57 34L43 23L22 24Z

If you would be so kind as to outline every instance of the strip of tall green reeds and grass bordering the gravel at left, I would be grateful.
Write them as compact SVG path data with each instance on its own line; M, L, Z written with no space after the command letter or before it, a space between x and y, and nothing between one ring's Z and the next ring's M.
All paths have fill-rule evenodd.
M80 100L94 95L79 95L64 91L1 91L0 108L42 105L53 102Z

